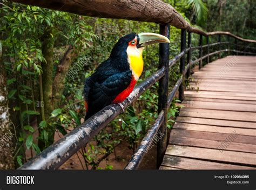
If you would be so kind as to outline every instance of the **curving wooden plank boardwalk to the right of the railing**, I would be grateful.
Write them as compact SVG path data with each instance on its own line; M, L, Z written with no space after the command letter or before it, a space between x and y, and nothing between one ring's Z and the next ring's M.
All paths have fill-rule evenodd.
M218 59L192 78L160 169L256 169L256 57Z

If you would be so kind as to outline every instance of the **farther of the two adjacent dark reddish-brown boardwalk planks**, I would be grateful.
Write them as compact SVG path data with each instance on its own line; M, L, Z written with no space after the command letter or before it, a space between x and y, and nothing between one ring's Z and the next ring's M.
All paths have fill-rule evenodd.
M235 131L234 131L234 133L226 134L226 133L214 133L214 132L172 129L170 138L172 135L176 135L177 137L215 140L215 141L219 141L220 143L222 141L226 140L229 143L238 142L238 143L243 143L243 144L256 145L256 137L255 136L237 135L237 134L235 134Z

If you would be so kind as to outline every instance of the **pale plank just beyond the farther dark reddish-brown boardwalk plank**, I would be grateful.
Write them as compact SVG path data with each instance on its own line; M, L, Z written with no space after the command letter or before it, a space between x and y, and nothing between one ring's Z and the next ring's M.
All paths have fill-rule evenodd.
M237 134L256 136L256 128L234 128L234 127L220 127L214 125L199 125L199 124L187 124L176 122L173 128L183 129L183 130L192 130L192 131L204 131L204 132L213 132L213 133L227 133L230 134L235 131Z

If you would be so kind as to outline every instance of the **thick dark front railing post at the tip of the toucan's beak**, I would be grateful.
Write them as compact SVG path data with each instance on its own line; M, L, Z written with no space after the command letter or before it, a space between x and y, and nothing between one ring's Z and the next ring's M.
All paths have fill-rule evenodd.
M170 38L170 25L160 25L160 35ZM167 145L167 98L169 82L169 43L159 44L159 69L165 67L165 75L159 80L158 87L158 114L164 110L164 121L159 128L159 133L164 134L157 144L157 168L161 165Z

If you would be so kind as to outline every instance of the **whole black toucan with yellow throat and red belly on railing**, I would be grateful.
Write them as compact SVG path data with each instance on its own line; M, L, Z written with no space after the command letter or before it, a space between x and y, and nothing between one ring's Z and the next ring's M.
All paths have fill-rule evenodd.
M149 32L132 32L118 40L110 57L85 80L85 119L107 105L122 103L129 96L143 71L144 47L156 43L170 43L170 40Z

